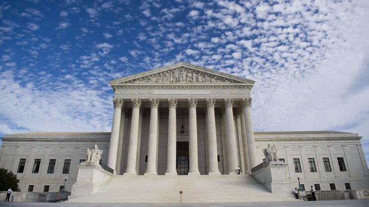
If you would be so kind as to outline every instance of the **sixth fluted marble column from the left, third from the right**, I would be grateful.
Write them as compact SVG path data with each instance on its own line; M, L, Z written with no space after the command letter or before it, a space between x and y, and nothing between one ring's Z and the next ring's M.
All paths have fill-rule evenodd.
M209 175L220 175L218 168L218 151L216 146L215 130L215 99L206 99L207 106L207 128L208 128L208 155L209 155Z

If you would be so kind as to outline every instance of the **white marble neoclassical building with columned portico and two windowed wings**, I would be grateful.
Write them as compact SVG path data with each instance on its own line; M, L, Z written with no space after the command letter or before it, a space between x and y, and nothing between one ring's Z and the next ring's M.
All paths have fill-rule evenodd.
M153 178L154 183L154 178L193 181L204 175L231 182L240 168L243 176L237 182L250 179L242 184L245 189L239 189L246 192L248 184L250 189L256 186L251 180L263 183L258 172L268 144L276 147L277 165L283 167L283 179L278 183L289 183L287 188L296 186L299 178L307 189L310 185L318 190L369 189L369 171L358 134L254 132L250 110L253 80L181 62L110 84L114 90L111 133L29 132L2 138L0 167L20 178L22 191L58 191L65 177L66 188L71 190L77 181L77 165L86 160L86 150L95 144L103 150L101 163L113 170L105 189L112 185L114 190L109 183L124 178L132 183L132 178ZM129 187L129 180L124 183Z

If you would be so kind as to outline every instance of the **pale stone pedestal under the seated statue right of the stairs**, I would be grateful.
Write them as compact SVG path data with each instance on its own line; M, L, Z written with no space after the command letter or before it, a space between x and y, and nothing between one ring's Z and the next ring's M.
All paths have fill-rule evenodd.
M261 169L251 173L257 181L272 193L291 194L292 185L288 176L288 165L280 161L271 161Z

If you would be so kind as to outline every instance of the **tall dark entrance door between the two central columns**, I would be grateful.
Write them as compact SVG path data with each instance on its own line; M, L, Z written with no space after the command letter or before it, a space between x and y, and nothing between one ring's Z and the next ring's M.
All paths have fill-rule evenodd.
M177 173L188 175L188 142L177 142Z

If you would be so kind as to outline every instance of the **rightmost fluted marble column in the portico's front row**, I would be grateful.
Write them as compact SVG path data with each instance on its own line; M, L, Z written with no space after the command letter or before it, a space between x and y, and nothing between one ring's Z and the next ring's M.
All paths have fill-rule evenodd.
M244 115L245 115L245 126L246 126L246 141L247 141L247 153L249 168L253 168L256 165L256 146L254 137L254 128L252 127L251 120L251 98L242 100L245 104Z

